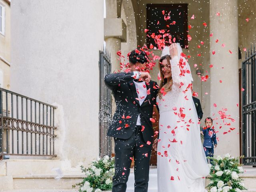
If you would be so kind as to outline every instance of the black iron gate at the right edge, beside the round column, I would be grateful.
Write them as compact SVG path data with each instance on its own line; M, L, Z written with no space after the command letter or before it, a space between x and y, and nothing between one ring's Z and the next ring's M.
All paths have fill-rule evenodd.
M250 48L242 62L243 164L256 165L256 52Z

